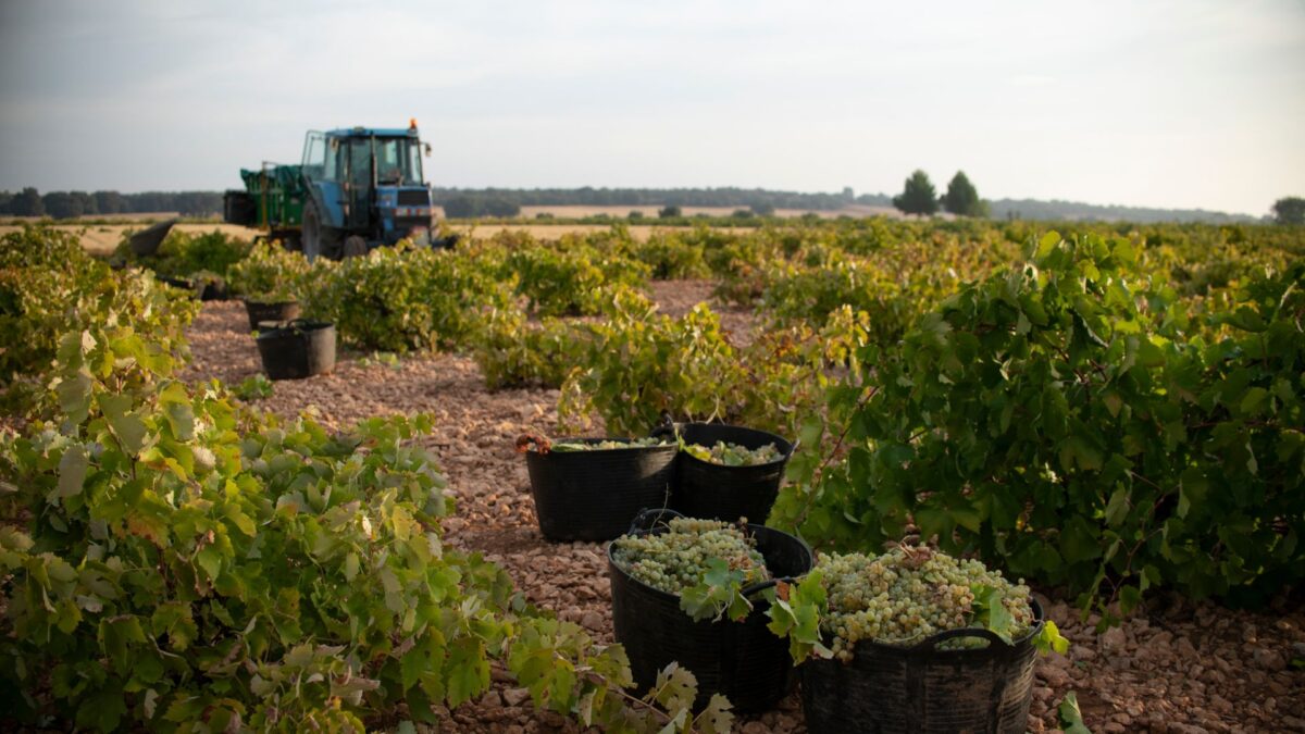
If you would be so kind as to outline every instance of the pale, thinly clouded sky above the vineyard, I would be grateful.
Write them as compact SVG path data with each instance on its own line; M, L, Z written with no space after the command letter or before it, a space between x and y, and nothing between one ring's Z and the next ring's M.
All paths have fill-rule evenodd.
M1305 196L1305 0L0 0L0 189L239 188L410 118L441 187L1259 215Z

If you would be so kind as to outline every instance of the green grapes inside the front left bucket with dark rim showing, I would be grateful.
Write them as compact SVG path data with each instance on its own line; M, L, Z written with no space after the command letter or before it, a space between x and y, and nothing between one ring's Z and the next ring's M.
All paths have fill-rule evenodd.
M741 590L770 579L745 526L746 520L676 517L664 532L612 541L612 560L649 586L679 596L680 609L694 619L727 613L739 619L752 610Z

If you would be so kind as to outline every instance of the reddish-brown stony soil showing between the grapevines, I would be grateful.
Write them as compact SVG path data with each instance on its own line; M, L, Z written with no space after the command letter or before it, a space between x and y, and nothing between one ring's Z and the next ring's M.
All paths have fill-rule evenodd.
M654 296L671 315L710 294L710 283L656 283ZM750 313L726 311L739 341L750 337ZM191 328L189 380L219 377L236 384L260 371L240 303L205 303ZM557 391L488 392L475 363L436 354L397 367L363 366L341 354L331 375L275 384L256 404L295 415L315 410L331 426L388 413L429 413L427 444L440 457L457 498L445 522L448 541L485 552L504 566L527 597L578 622L602 643L612 641L611 593L603 546L549 543L539 533L525 462L513 439L525 430L557 428ZM1045 597L1044 597L1045 598ZM1229 611L1208 602L1158 598L1146 614L1103 635L1095 619L1081 623L1064 601L1044 601L1048 615L1073 643L1069 656L1037 662L1031 731L1056 729L1054 708L1077 691L1094 731L1305 731L1305 671L1288 661L1305 657L1305 610L1285 599L1270 614ZM573 731L552 713L535 713L523 690L501 671L493 691L448 713L448 731ZM796 696L776 710L741 717L737 730L805 731Z

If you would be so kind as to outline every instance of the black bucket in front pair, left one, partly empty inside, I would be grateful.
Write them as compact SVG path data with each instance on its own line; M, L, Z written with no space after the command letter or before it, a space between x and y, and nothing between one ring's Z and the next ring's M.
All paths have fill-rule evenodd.
M677 516L671 511L652 511L636 519L641 528L651 516ZM630 533L656 533L632 526ZM793 579L812 568L812 551L806 543L771 528L749 524L757 550L766 559L771 575ZM774 585L774 580L744 589L753 609L743 622L694 622L680 610L680 597L654 589L633 579L612 559L607 546L607 568L612 579L612 624L616 641L625 646L630 671L639 691L656 683L656 674L672 661L693 671L698 679L694 707L707 704L713 694L729 699L735 710L758 712L773 708L792 687L792 658L788 643L766 628L769 603L757 592Z

